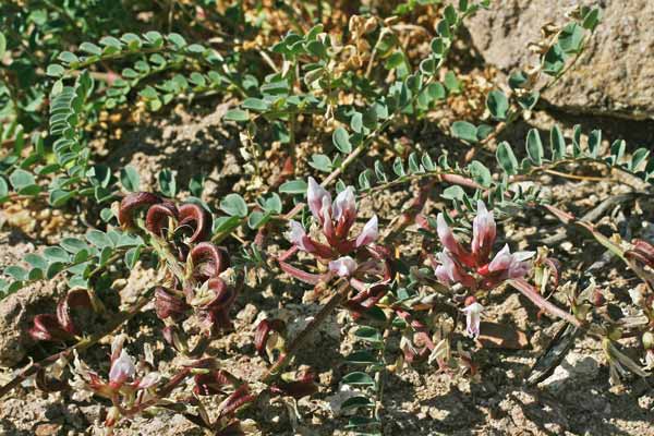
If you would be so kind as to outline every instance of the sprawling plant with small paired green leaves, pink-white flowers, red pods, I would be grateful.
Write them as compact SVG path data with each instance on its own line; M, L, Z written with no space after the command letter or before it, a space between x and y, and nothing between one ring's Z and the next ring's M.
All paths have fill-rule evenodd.
M49 11L46 16L59 16L61 11L47 3L34 2L36 10ZM330 5L339 12L330 21L323 15L325 1L317 8L300 2L306 10L298 14L277 2L289 14L281 29L252 21L263 12L253 13L247 2L225 11L208 3L172 2L161 33L136 33L133 22L116 20L109 29L82 17L86 7L69 4L62 11L71 20L55 27L70 31L70 40L34 59L20 34L0 34L0 76L11 80L9 94L0 84L0 101L11 97L15 111L7 125L0 121L0 140L12 148L0 160L0 203L40 199L49 207L75 207L93 227L84 239L64 238L43 254L31 253L28 268L4 268L12 279L0 279L0 292L51 279L62 294L26 330L39 343L29 358L52 354L19 371L0 387L0 397L34 378L43 390L100 402L109 433L125 420L161 410L183 415L206 434L255 433L266 425L253 425L259 408L281 401L290 421L298 420L296 399L330 388L302 356L325 351L312 335L336 319L340 324L330 327L339 327L334 329L341 334L339 344L351 349L335 363L346 368L336 382L352 392L339 404L343 425L378 435L388 374L411 365L452 378L484 377L483 353L476 351L492 334L482 317L497 310L505 288L540 310L536 323L548 317L546 323L559 323L558 331L572 331L564 340L555 337L554 354L588 335L600 340L611 383L630 373L650 376L654 247L644 240L627 242L631 237L606 237L592 219L554 206L541 178L596 180L588 175L592 170L607 172L603 180L609 183L622 183L614 178L620 173L651 184L650 150L628 156L625 142L616 141L604 153L602 132L586 140L580 126L571 135L553 126L549 149L536 129L529 131L523 149L496 141L538 110L541 94L580 59L600 9L580 7L565 25L546 25L533 45L538 64L513 72L507 86L467 89L448 57L465 19L486 8L485 0L409 1L380 16L384 2L370 2L361 14L343 13L340 24L338 5ZM12 28L31 28L21 24L23 15L41 13L16 8L23 12L0 20ZM150 12L156 19L156 12L143 10ZM270 16L279 19L277 12ZM413 21L422 12L419 25ZM75 23L93 32L77 35ZM48 47L57 47L59 36L52 38ZM33 65L41 57L52 61L38 72L51 78L50 94L39 85L37 95L22 95L9 66ZM99 164L104 156L95 156L90 137L110 117L149 120L148 111L166 113L173 102L187 108L205 99L225 102L219 122L228 135L240 137L244 160L243 183L220 192L220 198L204 189L199 171L192 171L187 196L170 168L157 174L158 192L142 192L135 168L109 168ZM473 100L470 106L483 113L448 120L440 133L451 135L433 159L439 144L425 142L422 131L432 128L435 109L458 99ZM33 124L38 129L28 134ZM495 160L474 159L489 150ZM280 171L265 174L275 164L264 157L278 158ZM580 167L582 174L576 173ZM416 192L408 207L378 207L383 193L409 185ZM409 190L401 194L412 196ZM364 213L364 201L372 201L374 211ZM505 223L520 226L517 210L554 216L622 262L639 280L625 292L629 308L616 315L598 287L571 283L578 271L564 270L550 257L555 247L530 240L532 251L514 251ZM417 254L409 254L412 249ZM135 301L116 307L117 283L137 264L152 269L153 279L135 290ZM564 275L568 281L559 286ZM242 347L244 368L230 366L215 344L239 325L234 315L278 279L291 301L312 304L315 313L294 335L289 327L299 319L266 311L258 323L242 323L240 332L252 336L249 342L263 359ZM142 337L140 350L125 335L142 323L156 327ZM642 359L625 350L628 338L639 339ZM155 359L152 343L158 339L164 351ZM101 347L107 352L95 354L106 360L94 362L87 351ZM560 354L550 359L549 351L543 358L547 363L538 377L560 362ZM251 377L237 376L243 373Z

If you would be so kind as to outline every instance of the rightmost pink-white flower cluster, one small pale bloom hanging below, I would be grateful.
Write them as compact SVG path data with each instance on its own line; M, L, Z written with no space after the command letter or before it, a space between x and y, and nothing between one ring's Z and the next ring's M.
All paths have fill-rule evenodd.
M531 270L531 263L528 261L535 252L511 253L508 244L491 259L497 229L493 211L488 211L482 201L477 202L477 215L472 223L470 250L465 250L457 241L443 214L438 214L436 225L444 249L437 254L438 262L434 269L438 281L447 287L460 284L474 293L477 290L494 289L507 279L522 278ZM470 295L463 312L467 316L467 332L476 338L480 335L484 306Z

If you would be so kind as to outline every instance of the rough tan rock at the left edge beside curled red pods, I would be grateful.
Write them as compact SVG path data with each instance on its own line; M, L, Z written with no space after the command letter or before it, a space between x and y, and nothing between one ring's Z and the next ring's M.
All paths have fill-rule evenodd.
M53 313L57 290L35 282L0 300L0 365L14 366L36 343L27 334L35 315Z

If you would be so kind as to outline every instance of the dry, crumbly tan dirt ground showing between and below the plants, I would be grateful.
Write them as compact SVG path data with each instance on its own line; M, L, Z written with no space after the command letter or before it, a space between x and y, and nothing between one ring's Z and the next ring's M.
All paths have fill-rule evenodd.
M154 184L157 171L170 167L178 171L179 185L185 186L196 171L208 174L209 184L204 199L216 205L220 196L232 189L244 190L242 183L243 161L238 150L238 136L221 128L220 118L225 107L217 107L207 113L181 113L173 121L154 123L147 128L123 132L120 141L106 145L106 159L116 166L132 164L142 171L142 189ZM531 124L521 124L512 130L508 138L520 143L525 129L531 125L547 128L552 114L540 113ZM616 128L615 120L572 119L554 113L569 129L577 122L602 123L609 130L608 140L622 136L630 145L638 145L653 130L652 123L642 122ZM641 136L642 135L642 136ZM650 136L651 137L651 136ZM439 153L446 137L429 129L421 130L416 142ZM481 159L492 156L481 154ZM193 162L190 166L189 162ZM264 168L267 177L279 171L279 162L269 159ZM352 169L356 173L356 168ZM546 191L555 204L576 214L583 214L609 194L631 192L632 181L622 184L605 182L570 181L556 175L544 175ZM638 187L638 186L637 186ZM390 211L405 204L412 197L411 190L404 186L393 192L384 192L374 199L374 209L382 222L392 217ZM439 207L438 193L433 195L429 208ZM370 215L373 202L364 202L364 215ZM7 216L7 211L3 213ZM64 211L75 215L75 211ZM654 205L635 198L616 205L596 222L604 230L617 231L618 222L622 232L633 237L653 232ZM614 222L614 223L611 223ZM11 225L11 222L10 222ZM0 233L0 263L8 265L20 262L25 253L41 245L43 241L57 242L60 237L40 234L39 229L25 231L5 226ZM68 226L74 233L82 225ZM506 239L516 249L535 246L540 241L557 231L562 231L557 222L541 213L521 215L505 228ZM413 238L413 237L412 237ZM415 237L417 238L417 237ZM584 234L571 233L567 242L550 246L553 256L561 261L564 279L577 281L583 271L602 258L604 251ZM238 242L232 241L234 247ZM417 257L420 245L404 245L401 251ZM126 288L121 292L129 295L137 291L148 277L144 268L136 268ZM616 304L628 300L627 289L633 277L618 262L608 261L597 272L597 284L606 290L607 299ZM291 329L298 330L306 318L319 307L316 303L302 304L306 288L284 278L270 277L266 272L253 274L246 289L239 296L233 308L235 329L215 341L209 352L222 360L237 375L246 380L256 379L265 371L266 363L257 356L253 348L255 319L262 312L275 313L290 322ZM464 340L468 349L474 350L474 359L480 365L481 377L465 376L452 378L437 374L435 367L426 363L404 368L397 374L385 375L385 388L380 415L385 435L639 435L654 436L654 389L652 379L627 379L621 387L608 383L608 367L600 344L590 338L581 338L568 354L565 362L544 383L535 387L525 386L524 379L535 359L543 352L559 325L547 316L538 316L528 301L506 289L496 292L492 299L488 320L512 325L526 335L526 343L517 350L479 348ZM164 350L161 338L156 335L160 326L146 307L138 322L131 322L125 331L131 336L130 348L137 353L145 338L154 339L155 359L160 368L167 367L169 358ZM296 404L290 401L266 401L245 411L244 417L261 423L258 434L266 435L343 435L347 416L336 413L339 401L347 398L339 380L348 368L343 354L353 347L348 336L350 325L342 314L338 314L311 340L311 344L300 353L299 364L311 365L318 374L320 390L311 399L302 399ZM462 339L462 338L459 338ZM153 339L148 339L153 340ZM398 344L388 346L388 352L397 352ZM34 354L44 350L35 349ZM107 347L87 356L96 367L107 366ZM23 364L26 363L23 360ZM11 375L10 368L0 373L4 380ZM293 411L296 407L295 411ZM0 408L0 435L92 435L99 434L102 410L97 402L73 400L71 392L38 393L32 388L22 387L2 399ZM140 417L121 423L119 435L201 435L181 416L162 411L155 416ZM256 434L256 433L254 433Z

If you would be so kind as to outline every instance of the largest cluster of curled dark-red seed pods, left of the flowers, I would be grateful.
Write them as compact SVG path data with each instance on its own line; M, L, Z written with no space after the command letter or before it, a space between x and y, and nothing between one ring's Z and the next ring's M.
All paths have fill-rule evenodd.
M146 211L142 226L136 219L140 210ZM122 199L119 221L123 228L145 228L158 241L155 245L166 251L162 257L169 267L170 263L180 263L179 268L174 268L179 272L173 271L171 284L155 290L159 318L177 322L195 313L206 331L231 326L229 310L237 296L239 280L229 268L227 251L206 241L211 217L204 208L191 203L177 207L142 192Z

